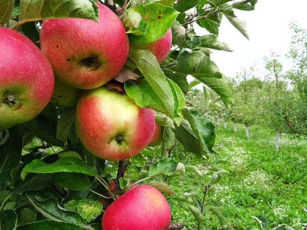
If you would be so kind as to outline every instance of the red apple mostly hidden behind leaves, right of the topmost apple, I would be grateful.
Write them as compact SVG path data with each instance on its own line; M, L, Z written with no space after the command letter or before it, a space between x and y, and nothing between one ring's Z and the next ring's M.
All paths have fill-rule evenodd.
M169 29L164 37L160 38L158 41L148 44L130 44L129 53L131 54L136 50L148 50L156 56L158 63L161 64L169 53L171 41L172 35L171 29Z

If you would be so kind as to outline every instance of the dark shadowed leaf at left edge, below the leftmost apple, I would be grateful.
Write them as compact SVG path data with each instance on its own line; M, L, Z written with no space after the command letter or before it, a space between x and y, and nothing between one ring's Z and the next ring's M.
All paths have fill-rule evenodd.
M12 182L11 171L18 167L23 148L23 125L9 129L8 140L0 146L0 191Z

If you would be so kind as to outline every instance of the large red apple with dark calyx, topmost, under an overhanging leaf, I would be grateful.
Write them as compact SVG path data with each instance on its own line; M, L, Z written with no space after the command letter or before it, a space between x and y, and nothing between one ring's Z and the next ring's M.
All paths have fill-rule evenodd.
M119 17L96 3L99 23L82 18L44 20L40 47L59 80L76 88L97 88L122 69L129 41Z

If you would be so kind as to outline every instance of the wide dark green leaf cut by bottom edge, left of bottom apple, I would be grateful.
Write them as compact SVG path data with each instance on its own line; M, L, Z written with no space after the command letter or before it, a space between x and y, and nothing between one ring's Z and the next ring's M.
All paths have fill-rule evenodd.
M82 228L76 224L58 222L54 220L42 220L36 221L30 224L24 224L17 227L17 230L82 230Z

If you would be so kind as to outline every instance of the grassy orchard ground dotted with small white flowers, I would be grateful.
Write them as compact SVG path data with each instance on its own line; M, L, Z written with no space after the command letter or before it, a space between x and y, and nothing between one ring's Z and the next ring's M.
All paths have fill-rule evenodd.
M218 157L227 157L228 163L220 165L231 172L225 175L215 190L206 198L206 208L215 206L224 214L226 229L259 228L251 216L262 215L269 221L268 229L277 224L288 224L304 229L307 223L303 207L307 206L307 139L280 136L280 150L275 151L275 133L260 126L250 128L251 139L245 135L245 127L233 124L220 127L215 151ZM183 159L182 162L185 162ZM204 170L208 181L210 172ZM212 174L212 173L211 173ZM172 186L177 194L197 191L203 193L200 179L191 173L181 179L180 186ZM188 203L171 201L172 221L181 221L185 229L196 229L196 221L188 209ZM206 210L206 209L205 209ZM205 213L200 229L224 229L218 219Z

